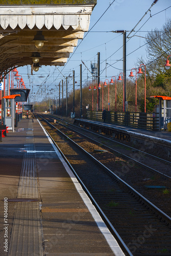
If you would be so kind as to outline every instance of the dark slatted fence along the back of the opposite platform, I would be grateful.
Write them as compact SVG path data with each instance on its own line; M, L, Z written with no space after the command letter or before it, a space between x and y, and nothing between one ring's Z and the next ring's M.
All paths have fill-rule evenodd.
M89 120L103 121L102 111L87 111L86 118ZM158 131L159 113L106 111L105 122Z

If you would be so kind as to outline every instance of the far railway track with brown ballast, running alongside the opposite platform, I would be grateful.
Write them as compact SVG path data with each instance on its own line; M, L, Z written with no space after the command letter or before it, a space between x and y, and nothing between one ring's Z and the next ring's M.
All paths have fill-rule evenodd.
M46 115L45 117L49 118L49 116L47 117ZM54 121L54 117L50 118ZM70 130L71 125L66 122L63 123L65 123L62 124L64 128L62 129L61 126L60 130L63 133L67 133L69 136L72 136L72 132ZM59 126L59 124L57 126ZM171 209L168 207L168 205L170 205L171 193L169 176L171 168L169 161L146 154L142 151L137 151L136 148L124 145L123 143L119 143L118 147L118 142L116 145L115 141L110 138L106 138L101 135L99 136L98 134L89 131L84 131L84 129L80 129L77 126L73 127L72 125L72 131L73 129L79 136L84 135L86 136L86 140L91 139L91 141L93 141L93 144L90 143L89 146L86 143L84 143L84 145L81 144L85 150L90 152L97 160L110 168L117 176L129 183L149 201L161 208L167 215L171 216ZM84 138L82 138L82 142L83 141L85 141ZM136 153L132 153L132 150L136 151ZM165 172L165 174L162 174L159 170L161 170L161 172Z

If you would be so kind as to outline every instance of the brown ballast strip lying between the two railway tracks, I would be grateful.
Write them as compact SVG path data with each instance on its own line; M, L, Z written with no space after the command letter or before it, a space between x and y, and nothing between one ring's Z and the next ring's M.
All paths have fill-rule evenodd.
M154 174L152 172L149 172L149 170L142 168L141 166L136 164L134 161L125 160L123 157L119 156L119 154L116 155L109 151L106 151L106 148L103 148L100 142L99 144L92 143L87 139L80 137L80 135L77 135L72 131L68 130L67 127L63 127L59 124L56 125L56 127L61 132L65 133L69 138L71 138L76 143L78 143L82 148L84 148L84 150L92 154L92 156L94 156L98 161L100 161L106 167L111 169L113 173L115 173L125 182L127 182L132 187L134 187L141 195L143 195L145 198L147 198L149 201L151 201L153 204L155 204L162 211L164 211L168 216L171 217L171 208L169 207L170 193L171 193L170 180L161 178L161 176ZM48 125L46 125L46 128L49 129ZM66 151L67 143L63 143L63 141L59 142L58 140L56 141L56 143L60 147L61 151ZM108 144L111 145L112 143L109 141ZM129 154L133 155L132 152L130 153L130 151L126 150L123 146L117 145L117 148L118 147L122 154L126 154L126 152L128 151ZM69 152L67 154L67 157L69 157ZM73 156L73 158L75 158L75 156ZM76 159L72 160L72 162L75 162L75 161ZM146 165L148 165L148 163L151 163L153 161L153 165L154 165L156 160L146 158L146 160L144 161ZM77 164L80 164L81 166L81 162ZM162 162L156 161L156 166L158 166L159 169L162 168L163 165L164 164ZM169 168L168 165L166 165L165 168ZM147 188L146 186L149 186L149 185L161 186L163 188Z

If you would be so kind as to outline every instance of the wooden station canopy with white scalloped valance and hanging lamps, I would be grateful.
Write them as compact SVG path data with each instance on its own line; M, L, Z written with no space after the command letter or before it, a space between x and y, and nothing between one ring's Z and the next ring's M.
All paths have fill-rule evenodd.
M15 66L33 65L33 57L39 59L34 65L64 66L88 31L96 2L0 1L0 75Z

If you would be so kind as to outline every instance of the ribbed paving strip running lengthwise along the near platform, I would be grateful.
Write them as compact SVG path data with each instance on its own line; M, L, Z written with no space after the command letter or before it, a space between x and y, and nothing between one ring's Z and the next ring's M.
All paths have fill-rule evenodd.
M8 200L16 203L8 256L43 255L32 120L29 130L17 198Z

